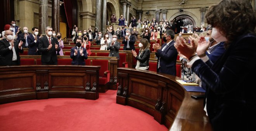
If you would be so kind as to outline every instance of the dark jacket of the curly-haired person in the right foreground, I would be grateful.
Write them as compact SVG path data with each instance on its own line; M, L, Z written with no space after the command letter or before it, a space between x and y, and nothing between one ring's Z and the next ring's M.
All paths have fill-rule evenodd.
M206 109L216 131L255 129L255 41L254 34L239 36L214 64L199 59L191 67L207 85Z

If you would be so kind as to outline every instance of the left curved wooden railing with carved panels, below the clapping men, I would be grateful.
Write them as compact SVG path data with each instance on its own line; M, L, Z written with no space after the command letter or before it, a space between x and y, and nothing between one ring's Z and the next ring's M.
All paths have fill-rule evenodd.
M0 104L31 99L99 98L100 66L0 67Z

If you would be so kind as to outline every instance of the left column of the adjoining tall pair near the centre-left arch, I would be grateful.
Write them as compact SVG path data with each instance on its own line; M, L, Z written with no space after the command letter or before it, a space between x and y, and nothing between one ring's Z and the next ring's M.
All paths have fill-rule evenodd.
M101 31L101 0L96 0L95 28Z

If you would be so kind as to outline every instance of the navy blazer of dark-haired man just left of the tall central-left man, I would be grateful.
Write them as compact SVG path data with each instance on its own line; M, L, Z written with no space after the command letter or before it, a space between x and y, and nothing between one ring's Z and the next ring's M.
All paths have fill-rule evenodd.
M27 38L28 46L29 46L28 55L40 55L39 51L37 51L40 36L37 35L36 37L37 37L36 43L35 43L35 37L33 36L33 34L30 34Z

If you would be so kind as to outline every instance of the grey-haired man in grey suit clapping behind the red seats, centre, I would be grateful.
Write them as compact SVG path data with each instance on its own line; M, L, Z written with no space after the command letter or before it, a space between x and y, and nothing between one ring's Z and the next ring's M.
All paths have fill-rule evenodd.
M107 50L110 50L109 56L114 56L120 59L119 57L119 49L120 49L120 42L116 41L117 40L117 35L114 34L112 36L112 42L109 42L107 46Z

